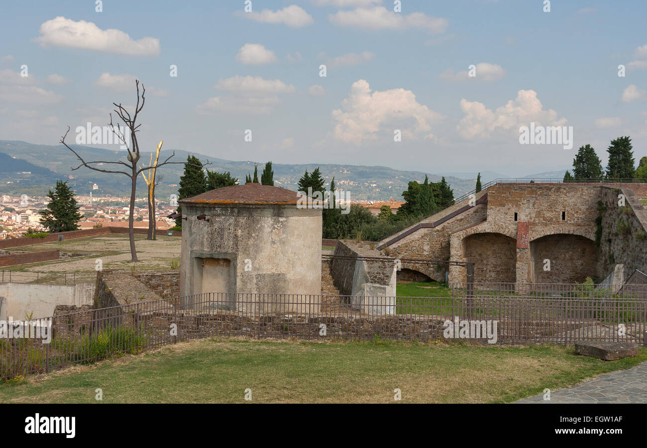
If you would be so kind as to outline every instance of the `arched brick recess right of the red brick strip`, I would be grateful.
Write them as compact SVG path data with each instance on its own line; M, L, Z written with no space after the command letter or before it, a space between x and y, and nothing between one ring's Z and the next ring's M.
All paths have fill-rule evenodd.
M586 230L538 232L530 241L534 283L580 283L597 273L595 234ZM548 260L548 262L546 262Z

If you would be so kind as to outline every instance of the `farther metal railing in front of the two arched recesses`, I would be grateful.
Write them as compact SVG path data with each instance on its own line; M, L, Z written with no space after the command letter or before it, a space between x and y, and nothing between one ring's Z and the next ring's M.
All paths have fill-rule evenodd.
M613 289L582 283L453 283L452 297L628 298L647 300L647 284L635 282Z

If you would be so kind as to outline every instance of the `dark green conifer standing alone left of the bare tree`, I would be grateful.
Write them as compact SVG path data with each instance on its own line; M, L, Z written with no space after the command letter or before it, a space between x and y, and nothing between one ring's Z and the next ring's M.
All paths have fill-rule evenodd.
M79 228L77 222L83 215L76 207L74 192L67 186L67 181L56 181L54 191L49 190L47 196L51 199L45 210L39 210L40 223L49 229L50 233L69 232Z

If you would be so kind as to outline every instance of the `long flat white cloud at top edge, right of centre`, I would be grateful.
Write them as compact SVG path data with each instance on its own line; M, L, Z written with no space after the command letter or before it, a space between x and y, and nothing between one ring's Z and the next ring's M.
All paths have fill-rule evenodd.
M426 16L422 12L402 14L389 11L384 6L356 8L351 11L338 11L328 16L336 25L356 27L366 30L403 30L424 28L434 34L444 32L448 21L441 17Z

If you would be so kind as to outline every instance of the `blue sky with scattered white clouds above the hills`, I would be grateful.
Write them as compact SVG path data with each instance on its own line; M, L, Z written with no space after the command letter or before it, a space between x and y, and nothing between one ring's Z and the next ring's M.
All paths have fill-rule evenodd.
M5 0L0 140L74 143L134 107L137 78L142 151L521 176L584 144L606 165L630 135L637 164L647 3L547 3ZM572 126L572 148L521 144L531 123Z

